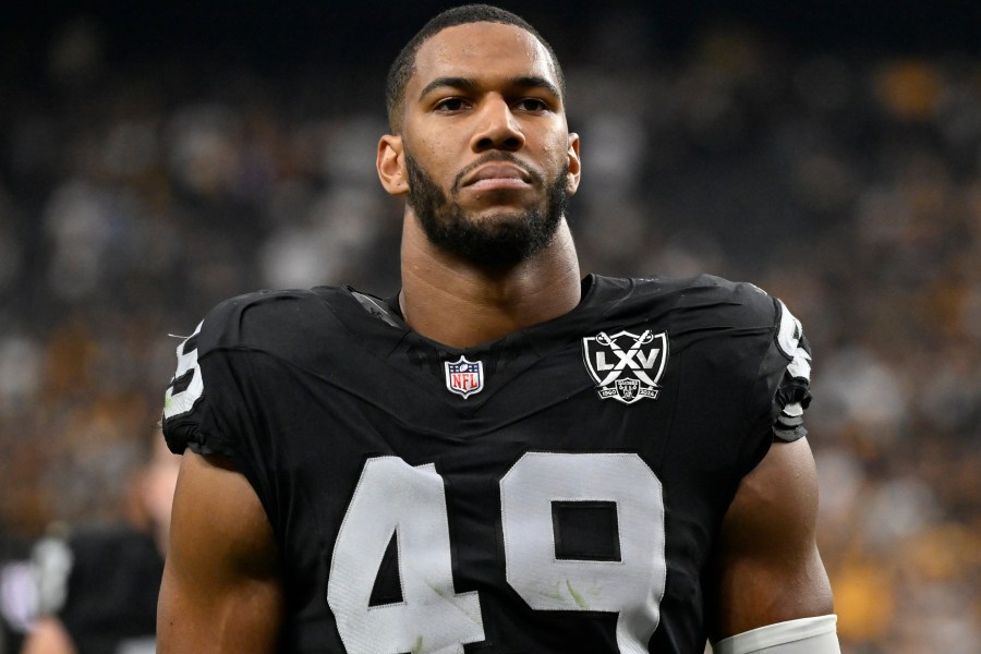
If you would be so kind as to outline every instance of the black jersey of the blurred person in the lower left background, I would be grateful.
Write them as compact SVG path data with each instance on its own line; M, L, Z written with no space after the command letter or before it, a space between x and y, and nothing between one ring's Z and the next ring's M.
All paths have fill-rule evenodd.
M164 557L153 536L129 528L45 538L35 560L46 609L78 654L153 654Z

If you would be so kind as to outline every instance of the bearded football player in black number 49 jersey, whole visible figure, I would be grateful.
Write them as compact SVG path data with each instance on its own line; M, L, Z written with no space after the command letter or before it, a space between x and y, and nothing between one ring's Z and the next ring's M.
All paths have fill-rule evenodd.
M546 41L445 12L389 73L402 288L266 292L178 348L162 652L837 652L784 305L581 279Z

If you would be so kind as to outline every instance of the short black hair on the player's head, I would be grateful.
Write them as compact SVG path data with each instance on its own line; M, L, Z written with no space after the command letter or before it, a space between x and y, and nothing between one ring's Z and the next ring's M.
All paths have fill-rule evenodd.
M558 81L559 93L561 94L562 100L565 100L566 77L562 74L562 68L559 65L555 50L552 49L552 46L545 40L545 37L538 34L537 29L532 27L528 21L518 14L498 7L492 7L489 4L464 4L463 7L448 9L434 16L409 40L408 44L405 44L405 47L402 48L402 51L399 52L399 56L396 57L395 61L391 63L391 68L388 69L388 77L385 84L385 107L388 111L388 126L393 134L401 130L400 114L405 99L405 86L409 84L410 77L412 77L412 74L415 72L415 56L419 52L419 49L431 36L443 32L447 27L468 25L470 23L504 23L506 25L514 25L538 39L538 41L545 46L548 56L552 58L555 76Z

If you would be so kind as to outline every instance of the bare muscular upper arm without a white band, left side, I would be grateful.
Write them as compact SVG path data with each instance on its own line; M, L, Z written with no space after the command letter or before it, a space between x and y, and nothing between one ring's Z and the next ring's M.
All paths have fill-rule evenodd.
M276 542L231 463L184 453L157 609L158 652L272 652L282 620Z

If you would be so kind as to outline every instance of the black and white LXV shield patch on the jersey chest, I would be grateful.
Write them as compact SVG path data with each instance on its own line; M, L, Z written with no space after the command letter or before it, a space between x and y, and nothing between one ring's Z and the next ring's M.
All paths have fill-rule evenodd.
M601 331L582 339L582 358L602 400L632 404L643 398L656 399L667 355L665 331Z

